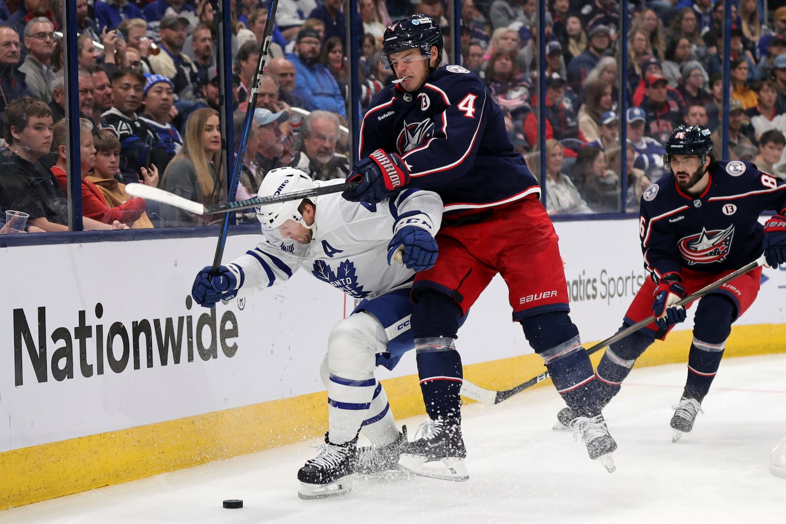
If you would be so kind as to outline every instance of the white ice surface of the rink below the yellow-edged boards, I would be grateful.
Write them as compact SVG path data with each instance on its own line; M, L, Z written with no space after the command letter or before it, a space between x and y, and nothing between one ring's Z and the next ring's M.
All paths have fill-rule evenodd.
M723 361L705 414L672 444L685 374L684 364L631 373L605 410L613 474L552 431L562 404L546 387L465 407L468 482L360 477L346 497L303 501L296 472L314 455L303 442L13 508L0 522L783 522L786 478L768 468L786 434L786 355Z

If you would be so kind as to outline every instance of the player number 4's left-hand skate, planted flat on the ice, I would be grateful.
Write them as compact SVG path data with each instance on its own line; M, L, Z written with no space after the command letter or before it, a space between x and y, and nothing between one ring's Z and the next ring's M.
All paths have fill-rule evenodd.
M464 481L469 478L466 456L460 423L440 417L422 423L415 440L402 445L399 465L415 475Z

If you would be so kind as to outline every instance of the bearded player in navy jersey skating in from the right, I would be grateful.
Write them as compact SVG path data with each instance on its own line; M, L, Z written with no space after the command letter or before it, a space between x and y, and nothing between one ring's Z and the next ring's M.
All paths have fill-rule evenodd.
M596 376L604 405L614 397L636 359L669 330L685 321L674 306L762 255L767 265L786 261L786 185L741 160L718 161L704 126L678 126L666 145L669 170L641 198L639 233L645 268L652 275L625 314L623 327L650 315L656 321L606 350ZM762 211L776 211L762 227ZM732 324L756 299L762 268L752 269L705 295L696 306L688 379L674 405L673 442L692 430L710 390ZM557 415L571 420L570 408Z

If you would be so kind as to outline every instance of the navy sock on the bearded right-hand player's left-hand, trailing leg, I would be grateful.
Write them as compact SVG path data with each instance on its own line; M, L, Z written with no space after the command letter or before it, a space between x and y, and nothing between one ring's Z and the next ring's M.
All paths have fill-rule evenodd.
M625 328L627 326L623 324L619 331ZM655 338L652 335L639 331L613 343L606 350L595 371L595 376L598 378L597 390L601 406L605 407L615 394L619 393L623 380L634 367L636 359L654 342Z

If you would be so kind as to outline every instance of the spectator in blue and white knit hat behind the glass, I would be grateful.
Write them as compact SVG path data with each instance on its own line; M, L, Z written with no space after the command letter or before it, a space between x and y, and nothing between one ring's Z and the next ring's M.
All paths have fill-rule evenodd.
M183 145L178 128L172 122L178 118L178 110L174 108L174 89L170 79L163 75L146 75L145 89L142 91L142 102L145 112L139 119L156 131L160 144L170 156L166 165L159 165L163 171Z

